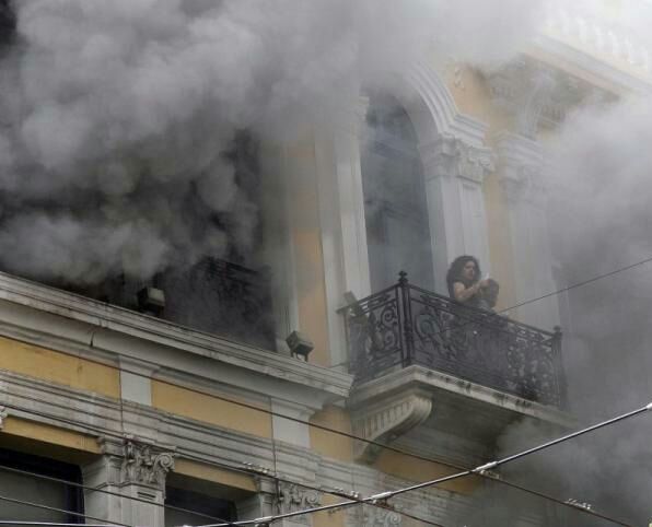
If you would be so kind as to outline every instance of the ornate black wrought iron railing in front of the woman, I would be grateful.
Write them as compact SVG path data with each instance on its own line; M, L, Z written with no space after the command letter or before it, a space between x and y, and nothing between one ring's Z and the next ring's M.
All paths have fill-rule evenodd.
M561 332L462 305L408 283L345 309L357 382L411 364L544 405L561 407Z

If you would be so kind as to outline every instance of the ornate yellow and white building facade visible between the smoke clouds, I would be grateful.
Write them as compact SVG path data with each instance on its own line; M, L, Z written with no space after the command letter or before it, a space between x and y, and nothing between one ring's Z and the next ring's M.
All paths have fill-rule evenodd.
M463 312L445 276L475 255L498 309L568 285L546 144L591 97L649 91L649 68L645 48L555 12L498 72L432 58L353 94L335 130L260 144L255 171L275 176L256 187L256 261L102 291L1 273L0 519L246 520L481 465L514 423L577 426L563 302ZM494 478L279 525L491 525L504 511L478 495ZM579 525L521 502L502 525Z

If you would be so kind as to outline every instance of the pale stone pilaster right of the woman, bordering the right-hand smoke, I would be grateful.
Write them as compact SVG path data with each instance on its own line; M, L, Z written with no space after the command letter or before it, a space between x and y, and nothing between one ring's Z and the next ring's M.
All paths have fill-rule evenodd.
M514 259L516 303L556 290L546 211L542 147L523 136L498 138L500 183L507 197ZM520 320L544 329L559 324L557 298L550 297L512 313Z

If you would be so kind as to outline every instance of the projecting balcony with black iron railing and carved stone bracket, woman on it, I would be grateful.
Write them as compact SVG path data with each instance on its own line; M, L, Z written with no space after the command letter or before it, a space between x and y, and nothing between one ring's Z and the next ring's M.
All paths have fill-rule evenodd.
M544 331L464 306L410 284L404 272L342 312L354 375L349 407L354 432L366 440L405 441L473 464L515 420L572 425L561 411L559 328ZM366 462L377 454L369 443L356 446Z

